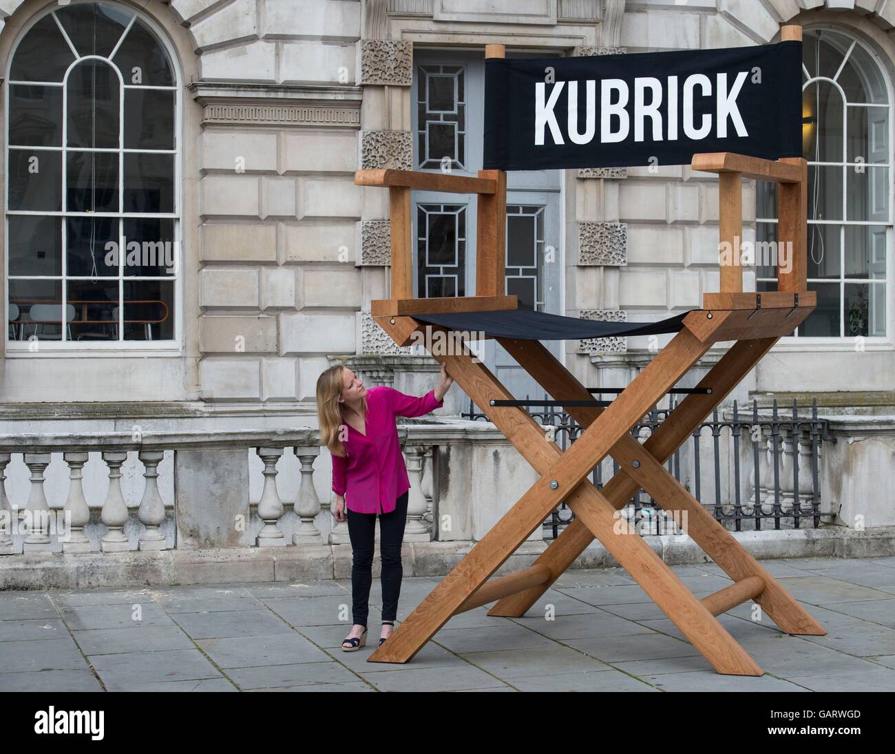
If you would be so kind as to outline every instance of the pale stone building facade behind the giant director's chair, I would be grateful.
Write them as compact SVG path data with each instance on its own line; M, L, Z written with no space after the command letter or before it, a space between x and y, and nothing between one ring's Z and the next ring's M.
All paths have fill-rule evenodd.
M48 13L62 37L49 26L46 36L30 36ZM59 84L44 86L32 58L42 44L64 49L60 39L70 43L72 61L85 56L75 37L97 14L107 35L121 26L124 41L93 55L115 64L116 49L127 51L126 35L139 27L138 52L157 67L167 64L169 76L147 85L132 78L139 64L118 66L121 92L108 101L124 103L124 198L109 210L122 223L109 238L127 235L121 228L139 214L128 210L133 201L148 212L146 227L173 228L158 236L144 227L145 237L175 241L177 254L168 277L138 274L134 283L124 265L106 270L115 285L107 285L105 297L92 291L95 270L72 274L77 255L97 240L90 210L78 213L62 201L38 201L29 210L37 189L28 187L32 174L21 159L38 145L13 135L31 123L16 118L35 113L17 102L26 95L46 99L45 119L61 124L67 113L62 133L73 133L72 113L87 106L60 74L49 83L63 82L68 99L65 109L54 109ZM453 171L474 174L482 164L486 44L505 45L507 55L544 57L738 47L779 39L782 23L804 25L810 42L805 81L814 83L806 91L816 91L805 127L816 133L813 141L806 136L806 150L815 150L806 157L823 165L812 173L809 278L816 279L809 287L823 290L823 312L811 328L784 338L737 396L848 391L854 400L834 402L891 405L893 0L0 0L0 16L10 309L0 404L8 431L58 429L63 421L100 432L132 424L210 432L312 426L315 382L337 358L368 384L422 394L435 384L438 364L395 347L370 317L371 300L389 295L388 194L354 185L354 171L440 169L447 159ZM848 85L837 76L847 76ZM832 90L844 92L839 105ZM164 100L166 116L158 116L146 92ZM146 99L131 106L138 96ZM100 103L100 119L108 101ZM168 145L150 144L147 151L158 154L145 165L127 151L128 129L140 131L141 120L133 143L145 146L151 131L164 132L159 143ZM93 141L81 146L87 153L98 143L98 126L91 127ZM837 128L848 133L837 136ZM52 138L42 154L64 153L60 195L95 202L95 172L91 178L72 167L81 158L70 136ZM20 172L13 175L15 165ZM55 190L55 178L48 180ZM698 307L703 293L718 289L712 176L688 167L581 169L511 176L509 188L508 237L527 244L534 259L528 267L517 262L512 285L543 311L658 320ZM170 203L158 206L166 194ZM857 204L849 196L859 197ZM771 237L771 224L761 220L773 217L763 211L773 197L747 182L744 198L747 239ZM438 195L414 202L417 252L433 256L414 260L417 290L468 288L474 208ZM31 268L22 249L37 243L38 231L14 226L25 227L42 210L62 228L58 243L45 244L60 261ZM818 261L822 246L826 256ZM761 288L764 272L746 270L746 288ZM26 316L35 301L51 302L48 313ZM565 349L567 365L585 383L624 386L661 345L609 338L555 347ZM697 371L717 358L712 350ZM512 373L499 354L486 362ZM465 411L461 392L453 389L439 413ZM328 493L328 484L318 487Z

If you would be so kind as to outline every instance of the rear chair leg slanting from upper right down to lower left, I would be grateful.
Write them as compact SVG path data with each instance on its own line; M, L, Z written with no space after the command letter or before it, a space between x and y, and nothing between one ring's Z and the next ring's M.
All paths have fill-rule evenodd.
M532 340L502 339L501 345L507 348L510 355L520 364L529 358ZM748 373L762 357L771 350L777 338L756 338L740 340L729 351L721 356L718 364L699 382L700 388L712 388L712 393L688 395L675 408L674 415L662 423L645 443L653 458L661 462L668 460L677 450L696 424L712 413L712 409L727 397L737 383ZM673 421L671 421L673 419ZM603 495L616 509L624 508L631 496L637 492L639 485L627 476L624 469L619 469L601 490ZM578 558L584 549L593 541L593 535L583 522L574 519L565 530L550 544L534 565L547 566L553 574L550 580L536 586L509 595L499 600L489 611L489 615L506 615L518 617L524 615L531 606L541 598L553 582L564 573Z

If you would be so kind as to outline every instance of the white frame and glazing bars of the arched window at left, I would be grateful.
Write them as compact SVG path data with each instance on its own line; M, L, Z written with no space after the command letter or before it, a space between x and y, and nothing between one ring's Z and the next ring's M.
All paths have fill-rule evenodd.
M93 0L90 0L91 2ZM85 151L85 149L81 148L70 148L66 145L66 126L67 126L67 113L66 113L66 105L67 98L65 96L65 87L66 82L68 80L69 74L72 72L74 66L80 64L84 60L88 60L90 58L98 59L106 61L118 74L119 78L121 76L120 72L117 71L117 66L112 64L111 60L115 56L115 53L118 51L118 47L121 46L124 38L127 36L128 32L131 30L134 21L139 18L143 23L149 27L149 30L155 35L158 43L165 49L168 61L171 64L172 72L175 76L175 84L174 86L150 86L148 84L125 84L122 81L122 90L121 97L119 98L119 112L118 112L118 127L119 127L119 147L111 148L111 149L98 149L98 150L89 150L89 151L107 151L107 152L118 152L119 153L119 185L123 188L124 186L124 154L125 153L139 153L139 152L154 152L158 154L173 154L174 155L174 212L170 213L139 213L132 212L127 213L127 218L173 218L174 219L174 243L175 243L175 274L172 276L146 276L140 277L138 279L146 280L146 279L164 279L164 280L172 280L174 283L174 293L173 293L173 302L174 302L174 338L168 340L98 340L98 341L82 341L82 340L70 340L70 341L55 341L55 340L39 340L37 341L37 346L35 347L34 341L30 340L11 340L9 338L9 322L7 320L7 311L9 306L9 216L11 214L9 210L9 176L5 176L4 180L4 248L6 250L5 254L5 265L4 265L4 276L3 276L3 302L4 302L4 342L6 347L5 355L7 357L20 357L20 358L35 358L35 357L56 357L60 354L71 354L76 353L78 356L121 356L126 354L127 356L179 356L183 353L183 72L181 70L180 64L178 62L175 48L172 45L171 41L167 38L166 32L162 30L158 24L146 13L142 13L137 8L132 7L131 5L125 5L115 0L100 0L101 2L105 2L107 4L116 5L121 8L122 11L126 13L130 13L132 15L131 21L129 21L126 29L122 33L120 39L115 44L115 48L109 53L108 57L96 56L96 55L87 55L80 56L72 44L71 39L69 39L68 34L65 32L63 26L57 19L54 18L56 24L59 29L62 31L65 42L72 49L72 55L75 56L75 60L71 65L66 69L63 81L14 81L10 75L13 66L13 60L15 59L16 53L18 52L19 46L21 42L28 35L28 32L31 28L38 23L38 21L43 20L47 15L53 13L54 11L60 10L64 7L71 7L73 4L71 3L62 6L50 6L46 8L41 13L36 13L21 29L19 34L19 39L16 39L15 44L13 45L9 59L6 64L6 76L4 79L4 99L5 99L5 108L4 108L4 116L6 120L6 124L4 126L4 154L8 156L10 150L12 149L23 149L23 150L45 150L45 151L56 151L62 155L62 197L63 202L65 201L65 190L66 190L66 154L69 151ZM11 147L9 144L9 103L10 103L10 85L25 85L25 86L58 86L63 88L63 110L62 110L62 129L63 129L63 141L62 148L55 147ZM127 89L149 89L149 90L166 90L166 91L174 91L175 92L175 122L174 122L174 150L132 150L132 149L124 149L124 90ZM6 160L8 164L8 160ZM118 192L118 212L96 212L96 213L87 213L87 212L68 212L64 210L59 211L36 211L36 210L14 210L12 214L19 215L40 215L40 216L51 216L57 218L68 218L68 217L121 217L124 215L124 191L119 190ZM119 221L119 234L121 232L122 223L124 218ZM120 237L120 235L119 235ZM34 276L34 275L21 275L15 276L15 279L48 279L48 280L59 280L62 286L62 309L64 312L65 300L66 300L66 287L65 283L67 279L65 272L67 267L67 259L66 259L66 245L67 239L65 233L62 233L62 272L61 275L55 276ZM119 274L118 278L106 278L109 280L117 280L119 282L119 296L123 295L123 286L124 282L127 278L124 278L124 270L122 269L124 266L124 258L126 250L119 250L118 264L119 264ZM84 276L78 276L81 278ZM77 279L77 278L74 278ZM104 278L97 278L99 280ZM119 315L120 317L124 316L124 300L123 298L119 298ZM121 327L122 322L119 321L119 333L123 332ZM64 331L64 324L63 324Z

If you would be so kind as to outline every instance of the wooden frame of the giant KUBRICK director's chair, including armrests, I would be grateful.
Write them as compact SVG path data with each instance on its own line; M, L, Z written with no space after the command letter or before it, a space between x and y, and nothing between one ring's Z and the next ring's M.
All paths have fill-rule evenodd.
M784 39L801 39L799 27L785 27ZM503 56L503 47L489 46L486 56ZM388 188L391 210L391 296L373 301L372 316L397 345L406 346L417 330L439 331L442 342L456 339L451 330L481 330L496 337L557 405L584 428L562 451L545 438L541 426L524 410L524 401L509 391L473 353L442 355L440 363L506 435L540 475L527 493L490 529L482 540L407 616L395 632L369 657L378 663L405 663L454 615L497 600L489 615L521 616L575 561L594 537L659 605L712 664L718 673L762 675L763 670L730 636L715 616L752 599L761 605L780 630L788 634L823 636L823 627L798 604L763 566L696 501L663 466L705 416L712 413L777 339L791 333L814 310L816 296L806 287L806 163L790 158L776 161L729 152L696 154L692 167L720 176L720 240L737 249L742 237L743 177L779 184L778 241L791 242L792 269L779 271L778 289L743 292L742 268L735 263L720 268L720 293L705 294L703 308L638 330L633 323L592 322L594 334L677 331L618 398L602 407L591 392L568 372L540 340L506 337L520 322L537 334L538 322L550 327L568 321L567 337L580 337L582 320L517 309L516 296L505 296L506 173L480 170L478 177L451 176L407 170L360 170L355 183ZM478 194L476 295L414 298L412 291L411 191L413 189ZM668 329L662 330L661 325ZM461 328L460 325L463 325ZM469 325L472 325L470 328ZM476 326L478 325L478 326ZM615 328L613 330L613 328ZM439 338L434 338L438 342ZM697 388L675 408L642 445L631 428L713 344L736 341ZM618 473L598 490L587 476L607 455L618 461ZM685 511L688 531L734 583L702 599L684 585L641 536L617 534L616 511L644 489L664 510ZM490 577L565 501L575 518L541 553L530 568L501 578Z

